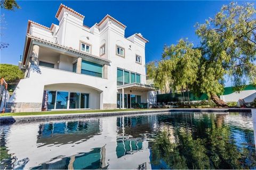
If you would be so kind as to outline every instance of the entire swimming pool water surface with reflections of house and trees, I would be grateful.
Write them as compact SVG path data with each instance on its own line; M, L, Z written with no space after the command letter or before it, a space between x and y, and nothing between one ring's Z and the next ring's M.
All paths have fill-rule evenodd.
M1 169L255 169L251 113L161 113L1 125Z

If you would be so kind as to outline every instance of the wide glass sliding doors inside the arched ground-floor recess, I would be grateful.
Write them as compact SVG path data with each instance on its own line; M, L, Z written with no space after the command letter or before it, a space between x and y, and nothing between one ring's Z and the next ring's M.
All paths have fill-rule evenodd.
M44 110L89 108L89 94L44 90L42 108Z

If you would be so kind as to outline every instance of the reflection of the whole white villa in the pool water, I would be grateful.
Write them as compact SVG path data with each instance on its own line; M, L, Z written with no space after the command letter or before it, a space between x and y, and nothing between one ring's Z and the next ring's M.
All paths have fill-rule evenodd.
M17 162L28 159L24 169L150 169L148 141L130 138L129 133L120 138L116 125L115 116L29 123L22 128L14 124L6 147Z

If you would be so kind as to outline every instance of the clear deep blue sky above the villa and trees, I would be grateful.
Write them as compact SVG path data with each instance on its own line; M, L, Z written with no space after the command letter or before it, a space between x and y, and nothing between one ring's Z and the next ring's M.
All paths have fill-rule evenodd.
M197 46L195 23L204 23L230 1L18 1L21 9L1 10L1 15L5 16L1 41L10 45L1 50L0 62L18 65L28 20L46 27L58 24L55 14L60 3L83 14L84 24L89 27L110 14L127 26L126 37L141 32L149 40L146 45L147 63L159 60L163 46L176 44L180 38L188 38Z

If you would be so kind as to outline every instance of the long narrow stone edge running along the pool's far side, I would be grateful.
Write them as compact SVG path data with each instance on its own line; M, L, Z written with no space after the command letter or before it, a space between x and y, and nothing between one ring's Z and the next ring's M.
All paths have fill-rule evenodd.
M164 112L251 112L251 108L168 108L168 109L149 109L143 111L120 111L120 112L94 112L94 113L71 113L71 114L51 114L51 115L30 115L30 116L2 116L1 124L10 124L14 122L34 122L34 121L51 121L65 120L70 118L89 118L97 116L117 116L117 115L134 115L143 113L164 113Z

